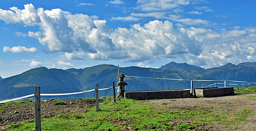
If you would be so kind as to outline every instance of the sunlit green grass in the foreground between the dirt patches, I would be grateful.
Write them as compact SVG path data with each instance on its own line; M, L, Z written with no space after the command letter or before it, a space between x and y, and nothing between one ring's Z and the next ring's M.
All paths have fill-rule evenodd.
M219 107L225 108L225 106ZM251 109L243 108L240 112L214 113L214 108L194 107L193 109L173 109L168 106L156 106L136 102L135 100L106 101L100 105L100 112L93 107L78 114L59 114L53 118L41 119L42 131L102 131L102 130L132 130L132 131L190 131L200 130L203 125L239 124L250 115ZM232 114L232 119L227 119ZM235 123L236 122L236 123ZM32 131L34 120L28 120L18 125L11 125L9 130ZM230 129L231 130L231 129Z

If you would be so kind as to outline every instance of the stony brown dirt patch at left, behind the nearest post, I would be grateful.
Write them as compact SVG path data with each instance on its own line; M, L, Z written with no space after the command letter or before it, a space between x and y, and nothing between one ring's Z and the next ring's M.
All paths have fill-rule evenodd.
M60 113L82 113L95 106L96 100L61 100L66 105L54 105L56 100L41 101L41 118L50 118ZM102 100L100 100L102 102ZM0 131L11 124L35 119L34 102L0 105Z

